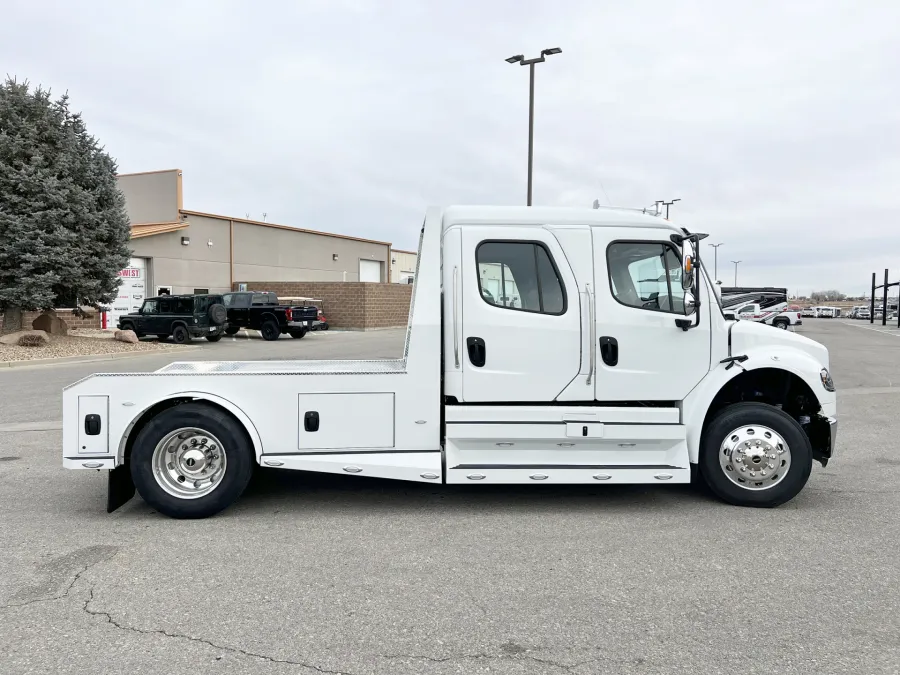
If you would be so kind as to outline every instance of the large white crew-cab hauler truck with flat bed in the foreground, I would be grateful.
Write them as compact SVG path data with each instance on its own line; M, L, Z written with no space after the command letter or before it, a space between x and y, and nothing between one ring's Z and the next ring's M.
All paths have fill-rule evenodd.
M108 471L110 511L136 486L177 518L221 511L257 466L478 485L693 470L732 504L782 504L832 456L828 351L726 320L704 236L629 209L429 209L401 358L93 375L64 390L63 465Z

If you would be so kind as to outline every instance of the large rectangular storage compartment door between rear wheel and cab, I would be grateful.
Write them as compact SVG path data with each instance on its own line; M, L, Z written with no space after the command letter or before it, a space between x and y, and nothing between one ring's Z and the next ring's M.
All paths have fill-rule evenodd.
M394 447L394 394L298 394L300 450Z

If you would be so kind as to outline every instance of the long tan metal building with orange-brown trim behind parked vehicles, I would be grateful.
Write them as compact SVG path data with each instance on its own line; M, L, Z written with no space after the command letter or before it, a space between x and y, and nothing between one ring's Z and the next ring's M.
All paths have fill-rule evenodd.
M216 293L259 279L390 281L389 242L185 209L178 169L118 180L134 258L120 273L116 314L162 289Z

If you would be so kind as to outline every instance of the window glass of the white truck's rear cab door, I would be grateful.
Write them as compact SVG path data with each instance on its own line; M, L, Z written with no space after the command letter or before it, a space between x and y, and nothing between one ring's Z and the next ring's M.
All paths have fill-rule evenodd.
M484 241L475 251L478 287L489 305L564 314L566 293L553 257L538 242Z

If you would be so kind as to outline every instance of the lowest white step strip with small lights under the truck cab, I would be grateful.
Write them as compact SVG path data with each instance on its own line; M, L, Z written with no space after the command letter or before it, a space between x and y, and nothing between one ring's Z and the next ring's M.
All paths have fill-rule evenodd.
M461 464L447 470L448 483L690 483L690 467L635 465Z

